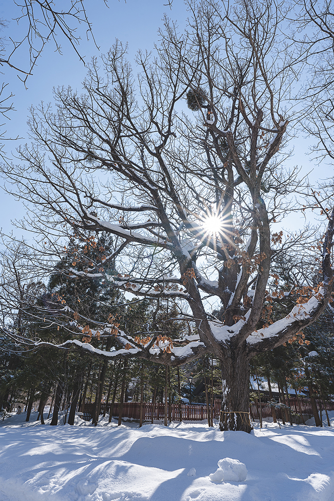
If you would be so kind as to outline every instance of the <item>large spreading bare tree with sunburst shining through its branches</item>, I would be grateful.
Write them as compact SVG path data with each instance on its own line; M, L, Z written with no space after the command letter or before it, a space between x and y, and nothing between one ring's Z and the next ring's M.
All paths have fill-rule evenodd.
M115 321L84 327L64 307L74 316L74 336L89 340L99 330L101 337L114 334L117 345L94 351L73 339L60 348L175 366L210 352L221 363L221 429L250 431L249 360L298 335L330 298L334 213L321 283L295 291L291 311L272 318L273 304L291 302L272 262L302 253L307 241L303 232L283 241L274 226L299 186L284 164L298 77L280 30L285 19L270 0L232 7L189 0L188 10L185 34L166 19L156 58L138 55L137 80L117 42L104 58L104 76L93 62L82 94L61 88L56 111L44 104L32 110L34 142L5 170L33 203L37 217L25 225L47 235L41 256L53 235L94 245L96 232L111 233L112 254L100 263L78 256L83 269L73 267L73 277L104 277L157 308L173 302L176 320L187 321L195 336L172 343L154 319L137 336L120 332ZM105 273L111 260L117 276Z

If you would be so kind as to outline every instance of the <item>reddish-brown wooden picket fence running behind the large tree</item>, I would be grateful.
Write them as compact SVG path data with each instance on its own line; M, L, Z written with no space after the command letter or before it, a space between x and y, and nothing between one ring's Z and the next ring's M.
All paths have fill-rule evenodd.
M285 404L285 402L283 402ZM326 410L334 410L334 402L330 400L326 400L324 402L326 406ZM316 405L318 410L324 410L322 401L316 400ZM92 419L93 411L95 404L87 403L85 404L84 416L83 419L85 421L90 421ZM104 413L106 404L101 404L100 414ZM271 417L271 406L269 403L262 403L262 417L267 418ZM312 407L311 402L308 398L289 398L289 407L293 414L303 414L304 416L311 416ZM107 404L106 414L109 414L110 404ZM215 399L213 405L213 417L215 419L219 419L221 409L221 400ZM182 420L183 421L202 421L207 419L207 407L205 404L182 404ZM260 418L260 404L258 402L251 402L249 406L250 417L251 419L259 419ZM282 412L284 410L276 408L276 416L278 419L282 419ZM119 415L119 403L114 404L113 415L118 417ZM168 417L172 419L172 421L179 421L179 404L171 404L168 405ZM123 404L122 417L128 417L135 420L139 420L140 418L140 403L139 402L125 402ZM163 420L165 417L165 404L163 403L143 403L143 421L151 421L153 420Z

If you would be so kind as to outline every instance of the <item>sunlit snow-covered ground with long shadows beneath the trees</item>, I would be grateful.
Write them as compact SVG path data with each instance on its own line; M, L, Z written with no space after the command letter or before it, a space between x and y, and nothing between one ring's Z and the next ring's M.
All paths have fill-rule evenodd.
M333 428L255 423L251 434L36 417L0 422L0 501L334 500L334 412Z

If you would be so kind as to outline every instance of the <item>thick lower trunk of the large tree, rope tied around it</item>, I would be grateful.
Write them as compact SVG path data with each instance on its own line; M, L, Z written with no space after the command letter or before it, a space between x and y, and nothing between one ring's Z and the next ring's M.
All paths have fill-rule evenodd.
M219 427L221 431L251 430L249 420L249 363L246 346L231 350L220 360L222 402Z

